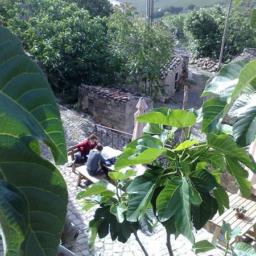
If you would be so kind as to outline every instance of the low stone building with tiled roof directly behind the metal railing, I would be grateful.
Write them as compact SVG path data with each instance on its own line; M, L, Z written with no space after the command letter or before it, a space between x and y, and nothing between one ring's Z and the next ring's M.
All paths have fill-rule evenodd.
M141 97L146 101L149 112L153 107L153 101L142 94L84 84L79 87L79 106L82 111L92 114L102 125L126 133L133 133L134 113Z

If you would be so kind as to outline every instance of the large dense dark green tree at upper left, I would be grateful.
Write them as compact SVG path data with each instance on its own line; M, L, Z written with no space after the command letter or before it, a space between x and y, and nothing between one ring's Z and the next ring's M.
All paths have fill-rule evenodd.
M109 82L105 19L89 15L76 3L62 0L26 1L15 6L8 26L24 48L42 60L55 92L77 100L77 88Z

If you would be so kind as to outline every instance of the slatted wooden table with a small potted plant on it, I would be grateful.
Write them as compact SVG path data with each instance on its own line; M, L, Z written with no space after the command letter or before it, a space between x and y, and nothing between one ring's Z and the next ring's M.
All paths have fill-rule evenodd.
M228 195L230 208L225 209L225 212L221 214L221 216L218 213L216 213L212 220L209 220L207 222L208 232L210 232L212 224L216 225L216 228L213 233L212 243L214 242L214 240L216 240L216 238L218 238L221 232L223 220L231 225L231 229L234 229L237 226L240 226L242 228L240 236L237 236L233 241L231 241L230 244L234 242L240 242L240 237L245 234L250 234L250 236L254 238L254 241L256 241L256 202L243 198L237 194L232 194L228 192ZM233 207L235 205L244 206L245 209L247 210L245 216L242 219L238 219L235 216L236 211L233 210ZM253 228L253 231L250 230L251 228Z

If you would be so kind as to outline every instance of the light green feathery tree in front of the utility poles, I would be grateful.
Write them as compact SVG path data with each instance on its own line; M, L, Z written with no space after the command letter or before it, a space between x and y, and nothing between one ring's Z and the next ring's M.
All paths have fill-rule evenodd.
M172 35L163 25L148 26L129 4L116 7L108 21L110 63L135 90L153 94L158 89L159 71L171 59ZM149 81L149 86L143 81ZM154 86L155 85L155 86ZM153 89L154 87L154 89Z

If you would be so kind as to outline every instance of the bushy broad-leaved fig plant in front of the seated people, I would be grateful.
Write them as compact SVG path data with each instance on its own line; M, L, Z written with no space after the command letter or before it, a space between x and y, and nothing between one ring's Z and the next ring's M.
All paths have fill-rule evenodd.
M199 230L217 210L222 214L224 207L229 208L228 195L220 184L224 170L235 177L242 195L250 196L251 184L246 180L248 173L241 164L255 171L254 160L243 148L237 147L230 135L221 131L207 133L205 141L191 138L192 127L200 121L199 113L158 108L139 116L137 121L148 123L144 128L146 135L127 144L125 151L118 156L115 172L110 173L110 177L120 179L122 176L125 179L123 168L135 164L147 164L147 170L132 181L126 181L125 200L122 197L121 201L114 200L113 195L107 195L108 199L104 196L104 201L98 201L101 207L109 207L104 214L112 218L116 216L118 221L115 214L118 210L110 209L122 204L122 209L119 209L122 220L133 225L147 217L147 211L152 209L156 220L163 224L168 234L175 234L175 237L183 234L194 243L192 225ZM172 129L166 130L165 126ZM177 128L183 130L184 142L175 140ZM79 198L94 195L95 191L89 195L88 190L81 192ZM84 203L91 201L85 200ZM98 215L99 209L93 224L104 221L107 225L105 235L109 231L112 233L111 221L105 220L105 215ZM94 236L96 233L101 236L102 227L96 224L93 227Z

